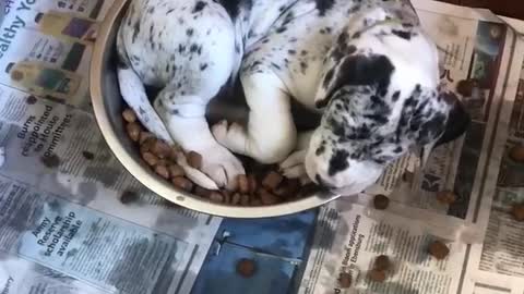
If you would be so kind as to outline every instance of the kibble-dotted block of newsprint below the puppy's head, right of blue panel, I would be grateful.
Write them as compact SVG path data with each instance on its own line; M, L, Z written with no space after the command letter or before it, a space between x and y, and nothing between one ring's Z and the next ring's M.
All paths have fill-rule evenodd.
M413 221L390 211L378 211L338 200L323 208L300 294L327 293L457 293L465 244L453 230ZM444 242L451 254L432 258L428 246ZM393 269L384 282L369 279L374 258L388 255ZM349 274L352 286L338 279Z

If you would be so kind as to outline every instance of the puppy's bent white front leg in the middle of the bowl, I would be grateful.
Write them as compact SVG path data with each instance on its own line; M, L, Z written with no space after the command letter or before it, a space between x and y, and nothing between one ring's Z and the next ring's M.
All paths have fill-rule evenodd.
M221 122L213 126L213 135L234 152L261 163L276 163L296 144L289 96L282 81L262 66L242 71L240 78L250 109L248 126Z

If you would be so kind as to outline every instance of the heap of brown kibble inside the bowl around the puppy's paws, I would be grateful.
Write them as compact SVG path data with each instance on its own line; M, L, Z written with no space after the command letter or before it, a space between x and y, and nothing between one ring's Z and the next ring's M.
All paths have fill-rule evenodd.
M142 159L152 171L170 181L175 187L210 201L234 206L271 206L308 197L319 191L314 184L302 185L297 179L285 179L274 170L274 167L260 164L250 159L243 161L246 174L238 175L236 181L230 181L219 191L205 189L186 177L184 169L178 164L179 157L184 155L188 166L201 170L202 155L195 151L184 152L178 146L169 146L166 142L156 138L154 134L145 131L131 109L124 110L122 118L130 139L136 143ZM83 155L86 159L94 157L87 151ZM49 161L45 163L46 166L59 163L58 157L56 160L51 158L46 161Z

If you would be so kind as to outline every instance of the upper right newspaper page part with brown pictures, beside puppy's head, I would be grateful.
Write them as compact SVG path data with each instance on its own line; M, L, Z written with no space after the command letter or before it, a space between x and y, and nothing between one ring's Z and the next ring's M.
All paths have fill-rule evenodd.
M425 167L419 167L415 155L408 155L366 193L385 194L406 206L471 222L485 182L515 34L484 10L427 0L414 0L413 4L439 48L445 87L456 93L461 81L475 81L469 97L457 94L473 122L461 139L436 148ZM457 201L440 204L436 199L440 191L453 191Z

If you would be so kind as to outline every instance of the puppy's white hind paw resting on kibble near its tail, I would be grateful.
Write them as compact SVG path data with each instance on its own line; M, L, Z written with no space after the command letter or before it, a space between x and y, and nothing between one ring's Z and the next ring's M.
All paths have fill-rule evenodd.
M236 185L239 174L246 174L242 163L224 146L218 144L195 150L202 155L202 172L207 174L218 187Z

